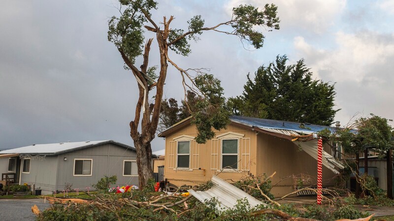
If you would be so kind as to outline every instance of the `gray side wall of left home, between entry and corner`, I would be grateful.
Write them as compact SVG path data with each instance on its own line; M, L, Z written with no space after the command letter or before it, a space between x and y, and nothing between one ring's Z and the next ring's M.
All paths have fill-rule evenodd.
M31 160L30 173L22 173L21 184L35 185L42 194L50 194L55 190L58 157L46 156L43 161Z

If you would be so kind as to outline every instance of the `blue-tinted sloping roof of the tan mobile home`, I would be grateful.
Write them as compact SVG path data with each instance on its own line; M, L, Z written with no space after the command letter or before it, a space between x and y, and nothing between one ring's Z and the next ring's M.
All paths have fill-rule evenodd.
M261 119L255 117L245 117L245 116L230 116L232 121L239 122L241 124L245 124L248 126L254 126L259 128L270 128L270 129L279 129L279 130L289 130L289 131L299 131L305 132L307 134L317 133L321 130L328 129L331 132L335 131L335 127L321 126L315 124L303 123L304 128L301 128L301 123L297 122L289 122L283 120L269 120L269 119Z

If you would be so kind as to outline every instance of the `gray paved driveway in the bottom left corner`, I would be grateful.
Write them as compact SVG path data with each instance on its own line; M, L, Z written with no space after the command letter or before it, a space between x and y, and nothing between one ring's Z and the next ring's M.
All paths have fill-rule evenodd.
M37 205L40 211L49 207L48 200L44 199L0 199L1 221L33 221L35 215L32 206Z

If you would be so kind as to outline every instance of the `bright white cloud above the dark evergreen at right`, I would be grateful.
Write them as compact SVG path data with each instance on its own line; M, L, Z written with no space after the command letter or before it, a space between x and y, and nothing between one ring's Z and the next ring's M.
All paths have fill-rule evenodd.
M372 31L337 32L336 47L322 50L301 36L294 39L298 56L304 57L315 77L336 82L336 101L342 121L356 112L392 117L394 98L394 35ZM385 107L385 108L382 108Z

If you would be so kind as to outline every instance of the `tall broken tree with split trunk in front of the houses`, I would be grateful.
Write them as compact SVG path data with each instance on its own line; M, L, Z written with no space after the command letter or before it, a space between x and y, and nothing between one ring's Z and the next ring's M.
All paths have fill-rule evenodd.
M138 85L139 97L134 119L130 122L130 135L137 151L139 186L143 188L148 179L153 177L150 165L151 141L155 138L158 127L168 63L180 72L185 92L191 90L197 94L198 109L193 113L193 122L198 128L197 142L212 138L212 127L221 129L229 122L228 112L223 108L223 88L220 82L212 75L203 73L203 69L181 68L170 59L168 50L183 56L189 55L191 51L188 41L197 41L198 35L203 31L234 35L258 49L263 46L264 35L255 28L262 27L268 31L279 29L279 18L276 17L277 7L273 4L266 4L263 10L252 5L240 5L233 8L232 17L228 21L212 27L204 27L201 16L194 16L187 22L188 30L185 31L170 28L173 16L168 20L164 17L161 23L153 21L151 11L157 9L158 5L154 0L120 0L120 4L120 17L114 16L109 20L108 40L117 47L126 64L125 69L131 71ZM148 39L144 46L145 30L155 34L160 55L158 67L148 66L154 39ZM139 56L143 60L137 68L135 59ZM156 68L159 76L155 75ZM194 72L195 76L189 72ZM150 103L149 92L155 89L155 100Z

